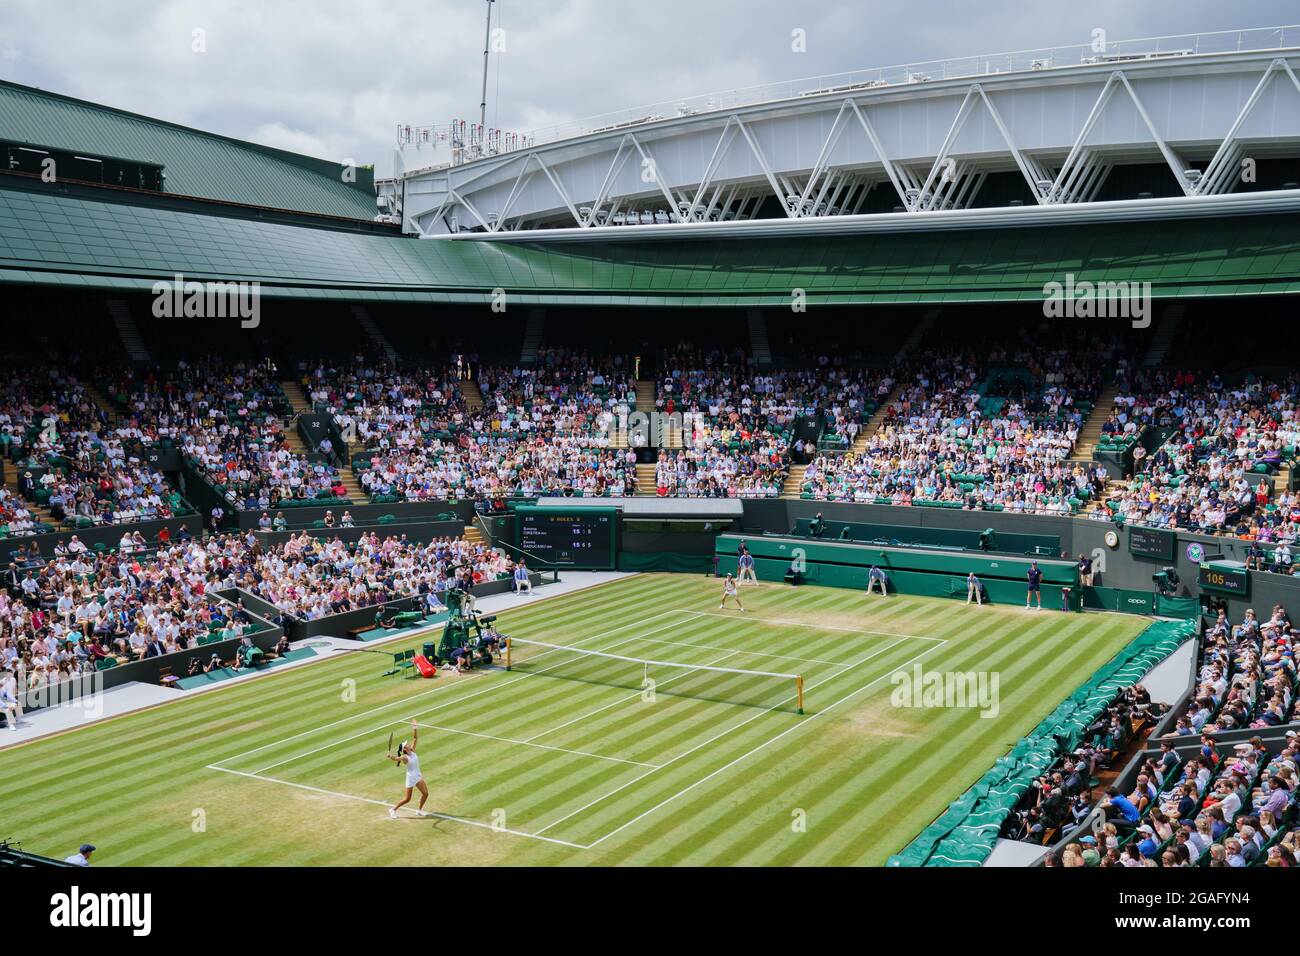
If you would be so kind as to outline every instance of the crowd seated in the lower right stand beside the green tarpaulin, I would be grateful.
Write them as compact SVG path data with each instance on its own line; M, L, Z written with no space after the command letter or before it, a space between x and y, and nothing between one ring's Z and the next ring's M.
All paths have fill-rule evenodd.
M1052 843L1074 831L1044 857L1049 866L1297 865L1300 737L1287 731L1271 747L1261 736L1219 743L1230 731L1300 719L1294 644L1280 606L1262 623L1253 611L1238 624L1221 613L1201 641L1188 710L1160 739L1158 753L1141 758L1131 786L1092 799L1096 774L1118 766L1156 715L1140 687L1122 695L1127 704L1114 701L1080 747L1039 778L1004 835Z

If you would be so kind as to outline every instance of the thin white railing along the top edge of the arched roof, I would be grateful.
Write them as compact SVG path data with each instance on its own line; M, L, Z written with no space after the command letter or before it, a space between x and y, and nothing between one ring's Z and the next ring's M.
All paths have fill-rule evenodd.
M599 133L603 130L640 126L679 116L694 116L722 109L737 109L760 103L812 96L845 90L870 90L881 86L905 86L939 79L989 77L1004 73L1058 69L1092 62L1124 62L1152 57L1192 56L1199 53L1239 53L1247 51L1283 49L1300 47L1300 25L1258 27L1252 30L1223 30L1218 33L1183 34L1178 36L1149 36L1135 40L1106 40L1101 36L1069 47L1022 49L1014 53L988 53L953 60L879 66L868 70L832 73L824 77L806 77L781 83L763 83L740 90L686 96L644 107L601 113L585 120L546 126L528 134L529 146L552 143L559 139ZM471 161L469 157L467 161Z

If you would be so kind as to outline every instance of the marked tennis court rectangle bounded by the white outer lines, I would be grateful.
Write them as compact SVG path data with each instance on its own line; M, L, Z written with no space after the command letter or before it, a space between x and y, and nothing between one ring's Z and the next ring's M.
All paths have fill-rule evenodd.
M724 644L715 643L719 623ZM944 643L736 610L672 609L568 645L521 640L508 671L446 692L421 689L212 769L386 805L398 780L391 767L376 766L376 747L390 732L408 736L415 721L428 754L421 758L426 810L590 848L647 812L641 792L658 795L658 804L672 800L650 783L655 774L698 757L699 777L681 786L689 791L796 731L820 706L867 691ZM484 765L498 771L480 779ZM462 786L467 779L476 786ZM604 804L623 808L621 818L592 813Z

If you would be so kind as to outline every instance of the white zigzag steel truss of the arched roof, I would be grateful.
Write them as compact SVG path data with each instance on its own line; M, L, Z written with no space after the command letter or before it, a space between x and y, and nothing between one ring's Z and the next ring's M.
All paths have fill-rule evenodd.
M989 90L989 83L993 81L982 79L942 94L954 100L961 98L957 111L939 150L932 159L924 160L928 169L916 169L918 160L900 160L890 153L874 122L874 118L879 117L875 116L878 107L872 95L855 90L838 100L829 127L823 127L827 129L824 138L819 137L816 159L810 168L779 168L760 142L763 135L771 135L771 129L760 131L759 126L770 121L760 116L731 112L718 117L722 126L716 140L712 142L711 152L708 146L703 147L702 155L707 155L708 159L698 177L692 177L690 173L682 176L682 170L677 169L676 178L670 178L655 155L656 152L663 155L663 150L647 138L650 131L624 130L616 140L603 147L604 155L610 157L607 165L603 157L601 160L603 178L599 170L595 170L594 176L584 173L584 177L588 177L584 182L592 185L599 182L590 200L575 198L560 178L558 161L551 156L543 159L543 150L533 148L517 153L517 159L512 157L508 161L507 165L515 166L511 169L514 181L506 179L510 183L508 193L504 183L500 185L500 193L495 199L499 211L485 206L476 196L477 190L484 189L478 182L485 177L495 173L495 182L500 182L502 165L467 166L463 168L464 178L455 174L460 170L446 173L448 177L446 185L441 190L437 187L432 190L436 203L433 208L404 216L403 221L421 235L433 234L438 220L451 208L463 209L463 221L468 219L474 228L491 233L555 228L558 211L567 211L572 222L582 229L614 224L715 222L757 217L770 198L776 199L785 219L820 219L861 213L868 194L887 179L897 194L898 206L904 212L967 209L976 202L988 176L1006 170L1006 159L1010 159L1023 177L1036 204L1091 203L1097 199L1109 172L1114 168L1115 155L1122 155L1124 146L1130 147L1130 155L1132 152L1128 140L1119 140L1117 143L1119 148L1092 142L1100 120L1113 105L1114 96L1119 91L1127 96L1140 121L1138 129L1144 130L1140 138L1145 138L1148 147L1154 147L1160 153L1180 193L1184 196L1221 195L1230 193L1239 181L1242 160L1248 150L1242 138L1243 129L1258 105L1265 101L1269 88L1279 82L1300 95L1300 78L1296 73L1300 68L1294 69L1286 56L1273 57L1266 64L1261 57L1258 64L1262 75L1240 108L1236 105L1238 100L1234 100L1231 109L1235 111L1235 118L1202 170L1192 168L1182 155L1180 147L1170 143L1166 133L1157 126L1139 90L1135 88L1134 78L1130 75L1134 68L1126 65L1126 69L1112 69L1104 74L1105 81L1100 92L1083 125L1074 134L1063 160L1060 159L1061 152L1041 144L1035 147L1037 155L1022 150L998 108L1004 101L1000 98L1011 94L998 91L994 95ZM1100 81L1101 75L1098 72L1096 79ZM997 147L1005 150L1001 152L1004 157L1001 161L994 152L963 156L958 148L963 130L980 109L987 113L983 135L988 137L996 129L996 138L1001 139L1001 147ZM852 129L854 121L866 137L870 151L861 156L845 157L844 134ZM889 122L893 129L897 120L890 116ZM1066 135L1070 135L1069 129ZM723 173L728 165L732 170L746 166L745 163L737 165L734 160L727 164L734 144L741 140L749 148L753 165L748 166L749 172L738 176L736 172ZM1058 148L1063 150L1065 144ZM1204 155L1202 151L1208 147L1200 140L1195 148ZM861 146L850 150L850 152L858 151ZM776 152L780 152L779 147L774 147L774 155ZM786 155L788 152L785 151ZM637 177L640 182L627 176L627 164L633 156L640 156L644 169L651 170L650 174L642 173ZM783 156L781 161L789 160ZM516 213L515 208L520 204L521 196L537 194L534 183L538 173L554 189L559 207L542 203L547 208L536 208L538 203L532 198L530 206L534 208ZM728 176L732 178L727 178ZM572 176L566 178L573 181ZM585 189L589 187L584 187L584 191ZM451 220L448 225L456 225L456 220Z

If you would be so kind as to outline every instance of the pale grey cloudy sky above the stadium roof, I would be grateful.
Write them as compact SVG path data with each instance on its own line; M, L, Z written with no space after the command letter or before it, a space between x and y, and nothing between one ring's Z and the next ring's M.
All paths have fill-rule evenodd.
M516 130L1097 29L1300 21L1295 0L497 0L493 17L488 124ZM385 174L399 124L477 118L484 27L485 0L0 0L0 78Z

